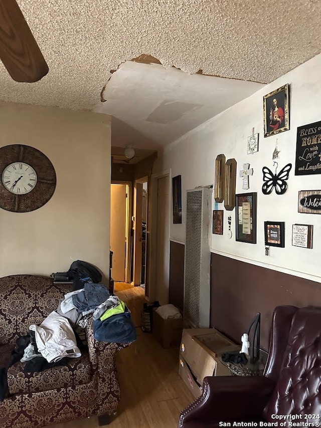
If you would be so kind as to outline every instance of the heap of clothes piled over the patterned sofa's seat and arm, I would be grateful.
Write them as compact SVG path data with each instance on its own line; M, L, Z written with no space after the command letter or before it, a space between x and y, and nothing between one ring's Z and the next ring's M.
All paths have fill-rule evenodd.
M6 367L0 368L0 401L7 389L7 370L17 361L25 362L24 371L34 373L55 365L67 364L86 349L85 327L93 317L94 338L102 342L130 343L136 340L130 311L117 296L100 284L86 283L84 288L65 294L58 308L38 326L16 341Z

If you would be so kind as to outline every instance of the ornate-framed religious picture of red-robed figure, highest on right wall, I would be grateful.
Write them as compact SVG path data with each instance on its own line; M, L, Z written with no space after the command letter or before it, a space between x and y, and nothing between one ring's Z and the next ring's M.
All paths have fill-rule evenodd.
M288 83L263 97L264 137L290 129Z

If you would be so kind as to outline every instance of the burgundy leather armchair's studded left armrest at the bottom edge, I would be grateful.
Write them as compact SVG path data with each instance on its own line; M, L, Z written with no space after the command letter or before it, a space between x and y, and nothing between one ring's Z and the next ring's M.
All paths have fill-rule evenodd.
M206 376L202 395L186 407L179 419L185 422L229 422L258 420L262 417L275 382L265 376ZM195 425L196 426L196 425Z

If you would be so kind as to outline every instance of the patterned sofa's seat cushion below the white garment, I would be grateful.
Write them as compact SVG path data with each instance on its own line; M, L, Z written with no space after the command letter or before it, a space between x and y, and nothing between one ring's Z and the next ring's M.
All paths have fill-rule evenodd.
M36 373L25 373L24 365L18 361L8 369L8 386L11 394L42 392L56 388L67 388L90 382L91 366L88 352L79 358L70 358L67 365L58 365Z

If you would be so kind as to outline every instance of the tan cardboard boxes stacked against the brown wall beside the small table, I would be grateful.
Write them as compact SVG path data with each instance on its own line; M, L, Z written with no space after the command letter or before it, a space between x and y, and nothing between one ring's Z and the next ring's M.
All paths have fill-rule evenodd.
M235 349L239 349L239 346L213 328L183 330L179 372L193 394L193 391L199 393L196 385L202 387L205 376L231 374L229 368L218 359L218 355ZM186 367L182 367L181 361L185 363L189 373Z

